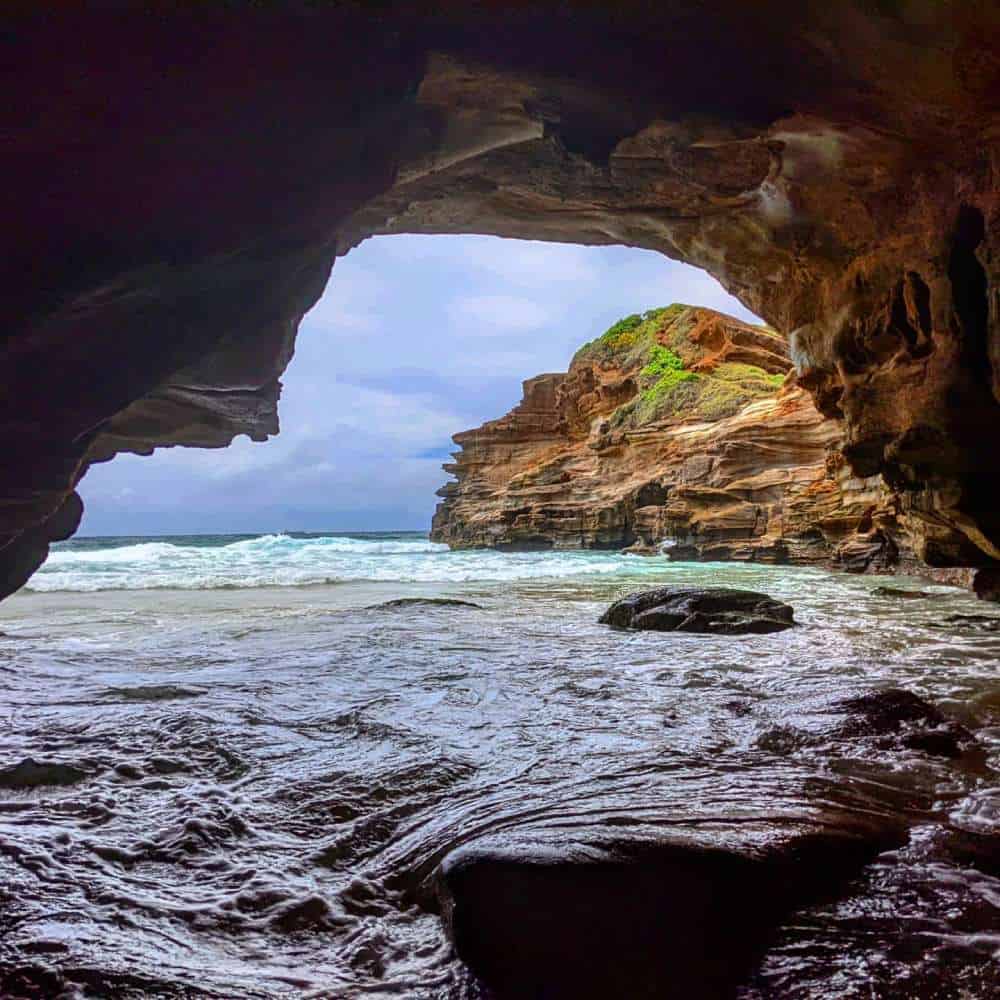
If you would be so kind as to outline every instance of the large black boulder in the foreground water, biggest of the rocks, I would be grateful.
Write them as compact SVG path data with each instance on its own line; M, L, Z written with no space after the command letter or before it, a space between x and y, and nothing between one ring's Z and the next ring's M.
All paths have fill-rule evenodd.
M488 838L445 858L438 896L490 995L707 1000L733 995L791 909L900 840L891 825L820 816L655 843Z

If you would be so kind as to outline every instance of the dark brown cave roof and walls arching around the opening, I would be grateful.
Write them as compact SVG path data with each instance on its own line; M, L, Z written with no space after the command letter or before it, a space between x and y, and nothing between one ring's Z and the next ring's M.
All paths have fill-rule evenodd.
M335 257L392 232L705 268L791 337L799 384L843 419L854 473L899 494L924 559L1000 562L995 5L390 3L10 29L3 591L89 462L273 434Z

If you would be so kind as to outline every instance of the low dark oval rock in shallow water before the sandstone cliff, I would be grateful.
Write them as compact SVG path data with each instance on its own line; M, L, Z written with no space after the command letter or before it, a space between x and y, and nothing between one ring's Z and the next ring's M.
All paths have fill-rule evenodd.
M729 587L660 587L615 601L602 625L716 635L781 632L795 624L791 605L767 594Z

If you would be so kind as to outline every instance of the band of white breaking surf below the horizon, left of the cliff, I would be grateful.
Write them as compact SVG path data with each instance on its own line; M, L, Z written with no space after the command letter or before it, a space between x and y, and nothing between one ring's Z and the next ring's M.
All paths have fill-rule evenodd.
M260 535L238 541L94 541L53 549L32 577L36 591L210 590L301 587L362 580L399 583L566 579L662 572L664 560L609 552L452 552L420 535L295 538Z

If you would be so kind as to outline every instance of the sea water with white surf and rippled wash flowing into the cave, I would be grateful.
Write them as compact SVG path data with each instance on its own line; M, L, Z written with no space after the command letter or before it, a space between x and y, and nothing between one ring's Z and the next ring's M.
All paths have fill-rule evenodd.
M800 625L598 624L670 583L761 590ZM434 889L457 847L655 836L819 782L878 785L914 832L788 919L741 997L985 1000L1000 880L935 846L1000 835L1000 633L954 617L984 613L903 577L413 532L59 544L0 604L0 995L472 1000ZM885 686L981 761L762 748L789 699Z

